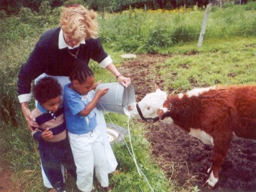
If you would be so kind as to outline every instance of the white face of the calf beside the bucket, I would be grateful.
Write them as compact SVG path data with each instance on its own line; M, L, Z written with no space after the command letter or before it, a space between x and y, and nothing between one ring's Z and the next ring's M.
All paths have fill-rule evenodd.
M155 118L158 116L157 110L163 108L164 101L167 100L167 93L156 88L156 92L147 94L140 102L138 106L141 109L141 113L145 118ZM131 104L128 109L131 117L140 118L136 104Z

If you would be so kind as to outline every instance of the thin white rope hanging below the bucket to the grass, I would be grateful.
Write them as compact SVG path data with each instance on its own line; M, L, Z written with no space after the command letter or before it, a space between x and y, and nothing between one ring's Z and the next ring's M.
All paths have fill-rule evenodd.
M99 104L100 104L100 106L102 106L102 104L101 104L100 102L99 102ZM103 108L104 111L106 112L104 106L102 106L102 108ZM128 151L129 151L129 154L131 155L131 157L132 157L132 159L133 159L133 161L134 161L134 163L135 163L135 166L136 166L136 168L137 168L137 170L138 170L139 175L140 175L140 176L141 176L141 174L143 175L143 177L145 178L145 180L146 180L146 182L147 182L149 188L151 189L151 191L154 192L154 189L152 188L152 186L151 186L150 183L148 182L148 179L147 179L146 175L141 171L140 167L138 166L137 161L136 161L136 158L135 158L135 155L134 155L134 151L133 151L133 147L132 147L132 140L131 140L130 124L129 124L129 120L130 120L131 116L130 116L130 115L127 115L127 116L128 116L127 125L128 125L128 135L129 135L129 141L130 141L130 145L131 145L131 150L132 150L132 152L131 152L131 150L129 149L129 146L127 145L127 143L126 143L126 141L125 141L125 139L124 139L124 136L123 136L122 133L116 128L115 124L113 124L113 122L112 122L110 116L108 115L108 113L106 113L106 115L108 116L108 118L109 118L111 124L115 127L116 131L118 131L118 132L120 133L120 135L122 136L122 139L124 140L124 143L125 143L125 145L126 145Z

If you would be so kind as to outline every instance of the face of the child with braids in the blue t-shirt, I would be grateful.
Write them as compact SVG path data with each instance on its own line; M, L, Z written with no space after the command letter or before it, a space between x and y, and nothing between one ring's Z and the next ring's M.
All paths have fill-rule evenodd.
M74 90L80 95L86 95L86 93L90 92L93 89L94 77L86 77L86 82L79 83L78 81L72 82L74 85Z

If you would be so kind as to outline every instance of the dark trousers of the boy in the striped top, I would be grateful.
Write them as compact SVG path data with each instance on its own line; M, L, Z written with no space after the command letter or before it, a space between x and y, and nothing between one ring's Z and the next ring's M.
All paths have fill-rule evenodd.
M58 142L39 143L40 157L45 175L56 191L65 191L61 164L76 179L76 164L68 138Z

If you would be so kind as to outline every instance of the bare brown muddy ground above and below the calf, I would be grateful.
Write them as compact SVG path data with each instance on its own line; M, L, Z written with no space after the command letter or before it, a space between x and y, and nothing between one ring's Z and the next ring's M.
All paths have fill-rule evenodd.
M118 68L124 76L131 77L137 101L154 91L155 82L163 89L164 79L154 72L159 70L154 64L164 63L168 57L171 56L141 54ZM232 141L218 184L213 189L205 189L202 185L209 177L207 169L211 166L212 147L189 136L177 125L146 124L146 137L152 143L152 154L168 179L177 180L185 188L197 185L202 191L256 191L255 141Z

